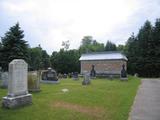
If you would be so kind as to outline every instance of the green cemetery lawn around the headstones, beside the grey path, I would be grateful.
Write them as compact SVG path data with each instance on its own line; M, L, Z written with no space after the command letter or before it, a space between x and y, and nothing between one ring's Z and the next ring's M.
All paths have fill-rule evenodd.
M82 86L82 79L63 79L59 84L41 84L32 93L33 104L17 109L1 107L7 90L0 88L0 120L127 120L140 80L94 79ZM62 92L68 89L68 92Z

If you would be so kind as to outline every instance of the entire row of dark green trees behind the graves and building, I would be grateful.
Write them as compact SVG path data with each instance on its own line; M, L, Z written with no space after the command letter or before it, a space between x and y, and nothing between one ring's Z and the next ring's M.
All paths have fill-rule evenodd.
M63 41L63 48L60 51L53 51L52 55L48 55L40 45L31 48L23 38L24 31L21 30L19 23L1 37L0 66L4 71L8 69L8 63L13 59L24 59L29 65L29 70L52 67L58 73L79 72L81 54L121 51L128 58L129 74L138 73L143 77L160 76L160 19L156 19L154 26L147 20L137 35L132 33L125 45L118 46L109 40L104 45L92 36L84 36L78 49L69 50L68 40Z

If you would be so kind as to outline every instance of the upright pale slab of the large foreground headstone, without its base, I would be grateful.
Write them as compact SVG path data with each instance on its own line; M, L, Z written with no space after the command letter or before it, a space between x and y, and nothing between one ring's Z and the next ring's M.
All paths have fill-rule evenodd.
M27 71L28 65L22 59L15 59L9 64L8 96L28 93Z

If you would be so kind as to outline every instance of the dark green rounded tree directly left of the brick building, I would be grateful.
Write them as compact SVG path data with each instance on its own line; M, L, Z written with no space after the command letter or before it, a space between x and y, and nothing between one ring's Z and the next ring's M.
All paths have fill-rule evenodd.
M51 66L59 73L79 72L79 51L61 49L53 52L51 56Z

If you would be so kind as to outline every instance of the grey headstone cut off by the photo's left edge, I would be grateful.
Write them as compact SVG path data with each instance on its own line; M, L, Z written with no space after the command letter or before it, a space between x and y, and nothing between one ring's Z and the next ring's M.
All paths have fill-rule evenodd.
M1 74L1 87L2 88L8 88L8 72L3 72Z

